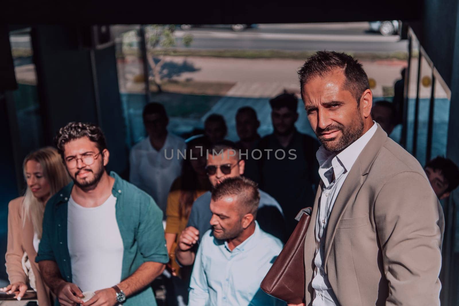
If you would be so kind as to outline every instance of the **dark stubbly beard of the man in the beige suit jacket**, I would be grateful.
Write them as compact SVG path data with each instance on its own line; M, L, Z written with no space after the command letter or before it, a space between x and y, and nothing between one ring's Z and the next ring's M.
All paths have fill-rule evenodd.
M353 120L349 127L345 127L342 124L332 125L327 127L325 130L320 132L316 131L317 138L319 139L320 143L324 146L325 150L332 151L332 152L339 152L341 150L346 149L349 145L351 145L354 141L362 136L364 131L364 120L360 116L355 117L356 120ZM334 143L336 139L326 139L321 133L326 133L330 131L341 131L341 138L338 139L337 143Z

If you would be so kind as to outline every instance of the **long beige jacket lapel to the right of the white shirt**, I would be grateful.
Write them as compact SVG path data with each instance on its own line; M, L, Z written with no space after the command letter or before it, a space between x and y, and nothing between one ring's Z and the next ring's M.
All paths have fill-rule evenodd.
M386 140L387 134L378 124L375 134L365 145L364 150L362 150L358 156L353 167L349 171L346 180L341 186L340 192L338 193L335 204L331 210L325 233L325 273L327 273L328 256L330 254L333 239L335 238L338 223L344 214L346 207L354 203L358 191L362 187L362 184L364 184L365 175L368 174L373 161L375 161L378 152L381 150L381 147L384 145Z

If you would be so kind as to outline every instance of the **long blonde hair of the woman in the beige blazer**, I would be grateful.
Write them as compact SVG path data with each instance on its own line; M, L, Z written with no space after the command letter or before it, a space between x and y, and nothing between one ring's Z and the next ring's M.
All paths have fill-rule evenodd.
M51 196L70 182L67 169L65 168L62 158L56 149L52 147L45 147L33 151L26 156L22 164L24 178L26 177L25 172L28 161L36 161L41 165L43 169L43 176L50 184ZM34 226L34 232L37 234L38 238L41 239L41 234L43 232L43 214L45 213L46 203L42 203L39 199L37 199L33 195L29 186L27 186L22 203L22 226L25 225L26 219L29 217Z

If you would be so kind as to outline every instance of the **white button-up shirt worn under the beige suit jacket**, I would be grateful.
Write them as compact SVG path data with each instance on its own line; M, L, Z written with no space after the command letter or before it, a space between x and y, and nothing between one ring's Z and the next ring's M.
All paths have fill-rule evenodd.
M336 296L331 289L328 277L325 274L323 266L324 252L325 252L325 230L328 224L331 210L335 204L336 197L347 178L347 174L351 170L354 162L357 160L358 155L362 152L365 145L375 134L378 125L375 123L373 126L346 149L340 153L330 152L320 146L317 151L317 160L319 161L319 175L324 186L322 187L322 196L319 200L319 207L317 211L317 218L315 224L315 238L316 238L316 255L314 257L314 278L312 287L314 289L313 306L335 306L339 305ZM335 180L333 179L335 174ZM322 239L324 238L324 239Z

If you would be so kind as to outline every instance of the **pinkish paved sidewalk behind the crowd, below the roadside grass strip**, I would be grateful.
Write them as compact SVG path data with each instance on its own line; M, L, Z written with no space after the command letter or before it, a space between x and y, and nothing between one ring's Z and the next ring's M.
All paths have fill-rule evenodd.
M233 82L235 87L227 95L243 97L272 97L282 89L298 91L297 71L302 60L235 59L215 57L168 56L167 61L196 68L174 79L202 82ZM373 95L382 96L383 86L392 87L400 78L406 61L362 61L369 78L376 81Z

